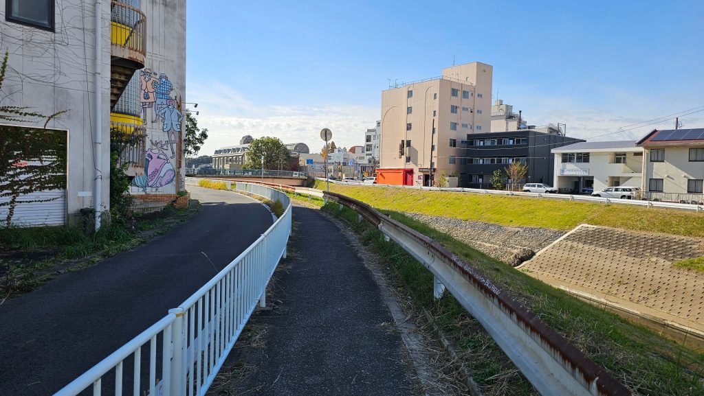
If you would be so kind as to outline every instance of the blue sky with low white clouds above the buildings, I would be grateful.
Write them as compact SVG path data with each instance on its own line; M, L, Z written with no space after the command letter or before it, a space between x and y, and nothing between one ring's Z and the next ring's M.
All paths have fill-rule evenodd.
M704 108L704 1L188 1L202 154L244 134L363 143L389 80L494 66L494 98L582 138ZM683 117L704 127L704 111ZM603 136L638 139L653 127Z

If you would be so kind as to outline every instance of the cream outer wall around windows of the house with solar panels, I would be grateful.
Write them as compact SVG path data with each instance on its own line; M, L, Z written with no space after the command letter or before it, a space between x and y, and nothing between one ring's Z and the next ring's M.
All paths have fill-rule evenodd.
M646 177L643 178L643 191L648 191L650 179L662 179L662 191L665 193L686 193L689 179L704 179L704 162L689 161L689 148L700 146L662 147L665 149L664 162L650 161L650 151L644 154Z

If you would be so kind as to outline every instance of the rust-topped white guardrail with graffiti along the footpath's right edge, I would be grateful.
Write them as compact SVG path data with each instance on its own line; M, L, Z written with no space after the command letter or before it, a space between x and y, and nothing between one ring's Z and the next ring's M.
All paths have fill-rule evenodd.
M358 200L336 193L325 193L325 198L358 212L432 272L435 296L445 288L452 293L541 395L631 395L553 328L436 241Z

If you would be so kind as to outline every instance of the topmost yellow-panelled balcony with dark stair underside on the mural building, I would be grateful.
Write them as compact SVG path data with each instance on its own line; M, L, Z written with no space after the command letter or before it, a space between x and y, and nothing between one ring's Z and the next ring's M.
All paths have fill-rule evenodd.
M139 1L132 0L139 5ZM146 18L138 7L127 1L112 0L111 20L111 108L125 91L134 72L144 68L146 58Z

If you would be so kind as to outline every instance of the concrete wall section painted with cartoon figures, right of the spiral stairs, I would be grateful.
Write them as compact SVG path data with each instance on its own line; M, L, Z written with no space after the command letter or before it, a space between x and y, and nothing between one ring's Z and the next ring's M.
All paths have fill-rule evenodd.
M176 193L185 188L182 141L186 107L186 1L142 0L142 11L147 23L146 61L144 69L136 75L140 82L139 101L146 126L149 164L145 165L144 175L134 178L130 192ZM156 95L162 75L168 79L166 86L171 90L165 96L174 101L173 108L164 109L165 104ZM145 94L149 99L144 99ZM176 126L179 120L180 126ZM150 177L152 174L159 176Z

